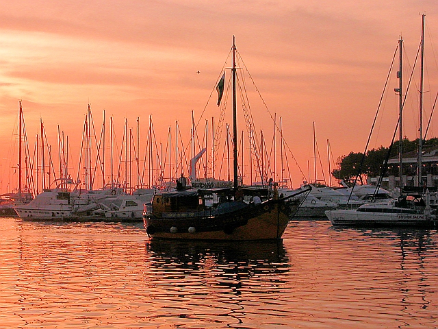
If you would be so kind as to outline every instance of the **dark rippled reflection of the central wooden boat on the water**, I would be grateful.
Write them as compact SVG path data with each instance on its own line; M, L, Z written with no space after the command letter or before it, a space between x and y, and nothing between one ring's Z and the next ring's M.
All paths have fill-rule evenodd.
M172 304L180 317L227 326L242 324L244 318L246 323L269 318L266 311L257 315L254 309L279 304L276 293L284 291L289 270L282 242L152 240L146 241L146 254L155 278L155 299ZM162 293L157 289L163 289ZM169 310L151 315L164 316L169 316Z

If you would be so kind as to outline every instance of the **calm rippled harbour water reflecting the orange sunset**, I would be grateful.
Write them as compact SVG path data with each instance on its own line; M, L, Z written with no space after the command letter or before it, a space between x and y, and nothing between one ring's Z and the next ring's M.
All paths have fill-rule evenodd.
M0 327L437 328L438 234L294 221L282 243L0 219Z

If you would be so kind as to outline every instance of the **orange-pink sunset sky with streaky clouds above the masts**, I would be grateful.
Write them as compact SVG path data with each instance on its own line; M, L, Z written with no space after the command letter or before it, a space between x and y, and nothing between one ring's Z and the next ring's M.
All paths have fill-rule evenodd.
M107 122L114 118L119 143L125 118L135 131L140 117L143 141L149 116L162 143L176 121L190 138L192 111L197 121L209 102L203 120L219 117L215 86L233 35L269 109L259 99L251 104L257 130L271 136L270 114L281 117L285 141L312 180L313 122L324 171L327 140L335 158L362 152L400 35L406 51L404 82L409 80L421 14L426 14L427 123L438 91L436 0L5 1L0 7L0 192L16 185L10 167L18 161L12 148L19 100L29 147L34 147L40 119L54 148L60 125L69 136L74 172L88 103L96 131L103 110ZM413 96L404 110L404 135L410 139L418 129L420 73L415 70ZM395 71L369 148L389 145L394 134ZM437 136L435 122L426 138ZM303 177L294 163L289 159L298 187Z

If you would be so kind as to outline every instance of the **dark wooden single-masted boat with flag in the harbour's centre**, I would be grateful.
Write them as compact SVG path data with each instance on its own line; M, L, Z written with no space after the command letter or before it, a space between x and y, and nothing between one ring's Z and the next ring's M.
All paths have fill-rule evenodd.
M281 239L289 219L300 205L299 199L286 204L287 200L309 192L298 191L280 197L276 189L271 194L267 188L238 186L236 50L233 37L233 187L180 188L181 191L155 194L151 206L145 206L143 215L146 233L153 239ZM253 198L257 201L250 201Z

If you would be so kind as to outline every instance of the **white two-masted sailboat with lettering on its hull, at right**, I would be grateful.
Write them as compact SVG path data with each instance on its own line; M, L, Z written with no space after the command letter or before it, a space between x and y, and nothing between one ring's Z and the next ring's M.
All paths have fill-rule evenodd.
M399 119L398 130L400 133L400 145L402 143L402 38L399 40L400 51L400 71L397 73L399 79L399 88L396 92L399 93ZM424 15L422 16L422 55L424 53ZM423 57L423 56L422 56ZM423 63L423 58L422 58ZM423 75L423 69L421 70ZM421 80L422 80L421 76ZM420 118L422 116L422 82L420 86ZM422 186L421 173L421 153L422 153L422 130L420 119L420 138L418 150L418 186ZM402 182L402 148L399 148L400 160L400 187ZM430 208L430 193L426 190L426 197L423 199L422 193L403 195L402 188L400 188L401 195L397 198L390 199L383 202L370 202L363 204L355 210L326 210L325 214L331 223L341 226L409 226L432 228L436 227L437 219L435 213Z

